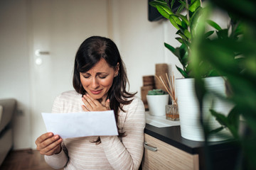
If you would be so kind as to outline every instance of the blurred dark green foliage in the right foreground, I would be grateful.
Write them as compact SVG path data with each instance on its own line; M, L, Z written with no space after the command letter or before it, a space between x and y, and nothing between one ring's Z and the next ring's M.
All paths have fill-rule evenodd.
M236 169L256 169L256 1L232 1L232 6L228 0L210 2L215 7L228 11L232 29L228 32L218 27L217 31L223 30L220 33L221 38L217 36L206 40L202 31L205 26L198 28L200 35L192 48L192 64L197 65L198 60L209 62L217 72L228 79L230 95L219 97L233 102L235 107L228 115L214 109L210 110L220 123L215 131L228 128L232 132L236 144L241 149L235 162ZM202 18L201 22L205 23L206 18ZM209 53L211 50L215 52ZM234 57L236 60L233 60ZM205 71L197 69L195 77L198 80L196 92L202 107L206 89L201 82L200 72ZM213 131L210 131L206 124L203 124L203 127L207 140Z

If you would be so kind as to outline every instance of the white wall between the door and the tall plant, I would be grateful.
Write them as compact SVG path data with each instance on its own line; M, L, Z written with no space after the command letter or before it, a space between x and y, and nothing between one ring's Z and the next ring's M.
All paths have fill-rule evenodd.
M114 41L127 67L130 91L138 91L140 96L142 77L154 75L155 64L171 61L165 57L164 49L164 30L169 22L150 22L147 0L112 0L112 4Z

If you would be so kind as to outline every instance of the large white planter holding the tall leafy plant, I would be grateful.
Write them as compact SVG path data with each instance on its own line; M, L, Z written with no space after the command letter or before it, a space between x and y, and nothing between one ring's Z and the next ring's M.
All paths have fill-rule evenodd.
M209 109L228 115L233 108L231 103L220 100L213 93L225 96L225 81L223 77L205 78L206 89L210 91L203 98L203 121L208 123L211 130L219 128L220 124L210 114ZM194 88L194 79L176 79L176 94L178 98L178 111L181 122L181 136L188 140L204 141L203 128L200 123L198 99ZM210 135L209 141L227 140L230 137L228 129L221 130L218 134Z

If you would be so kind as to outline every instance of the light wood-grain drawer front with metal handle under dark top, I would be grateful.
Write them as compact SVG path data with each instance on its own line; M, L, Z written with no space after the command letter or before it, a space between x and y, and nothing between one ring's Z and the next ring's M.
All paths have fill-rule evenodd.
M199 169L198 154L188 154L147 134L145 142L142 169Z

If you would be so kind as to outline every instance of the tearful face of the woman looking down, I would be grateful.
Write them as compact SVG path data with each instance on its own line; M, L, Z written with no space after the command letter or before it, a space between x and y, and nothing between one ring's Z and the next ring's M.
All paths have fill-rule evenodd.
M116 68L112 68L104 59L101 59L88 72L80 72L80 81L87 94L92 98L106 100L107 92L110 90L118 71L119 63Z

